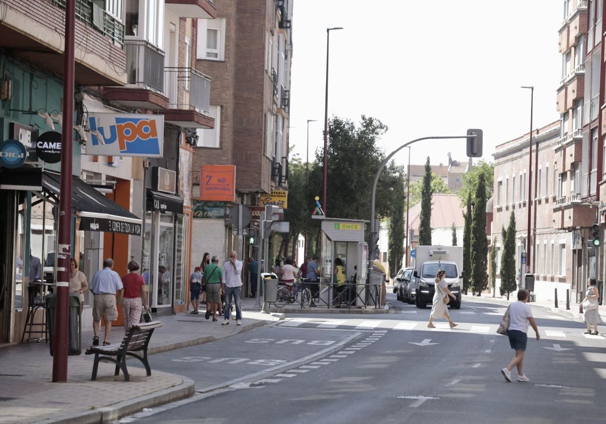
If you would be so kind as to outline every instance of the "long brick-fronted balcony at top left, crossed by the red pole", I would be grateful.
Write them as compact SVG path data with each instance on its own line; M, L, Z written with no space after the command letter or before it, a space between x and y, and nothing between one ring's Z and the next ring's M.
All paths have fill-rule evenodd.
M62 76L65 0L5 0L2 5L2 48ZM76 0L75 38L76 84L126 84L124 25L118 19L93 0Z

